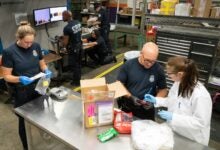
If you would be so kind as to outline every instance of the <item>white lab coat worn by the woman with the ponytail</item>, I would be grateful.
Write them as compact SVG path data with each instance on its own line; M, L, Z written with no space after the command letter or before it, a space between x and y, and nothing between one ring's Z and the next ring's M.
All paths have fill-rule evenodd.
M156 98L155 107L164 106L173 113L168 123L180 135L208 145L212 100L206 88L198 82L190 98L178 96L179 82L171 87L168 97Z

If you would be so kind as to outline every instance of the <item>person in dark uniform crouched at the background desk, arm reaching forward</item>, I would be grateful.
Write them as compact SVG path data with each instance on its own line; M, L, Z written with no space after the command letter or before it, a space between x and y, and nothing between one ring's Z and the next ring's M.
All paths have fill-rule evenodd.
M87 39L82 39L83 43L87 45L94 46L91 50L87 52L89 57L96 63L100 65L108 64L112 61L116 62L116 57L107 55L107 47L103 37L100 35L99 30L92 31L92 37Z

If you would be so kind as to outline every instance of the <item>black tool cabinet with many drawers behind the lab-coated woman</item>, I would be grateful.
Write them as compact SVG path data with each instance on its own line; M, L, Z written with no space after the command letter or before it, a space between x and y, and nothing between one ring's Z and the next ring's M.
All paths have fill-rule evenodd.
M199 68L199 80L207 87L212 73L214 60L217 57L220 34L214 31L201 32L189 28L166 27L157 32L156 43L160 54L158 61L165 65L169 57L184 56L195 60ZM168 87L172 81L167 78Z

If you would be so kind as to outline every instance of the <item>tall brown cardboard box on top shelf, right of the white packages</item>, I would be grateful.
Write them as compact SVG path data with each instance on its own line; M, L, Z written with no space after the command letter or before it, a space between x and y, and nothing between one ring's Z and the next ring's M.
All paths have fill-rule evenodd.
M194 8L193 8L193 16L208 18L210 14L211 5L212 5L212 0L195 0Z

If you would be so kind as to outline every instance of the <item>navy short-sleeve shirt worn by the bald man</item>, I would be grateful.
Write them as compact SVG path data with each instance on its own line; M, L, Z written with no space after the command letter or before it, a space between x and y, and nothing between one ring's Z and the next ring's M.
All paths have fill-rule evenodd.
M158 62L146 69L138 58L125 62L119 71L117 80L121 81L128 91L143 99L146 93L156 95L158 89L167 88L164 70Z

